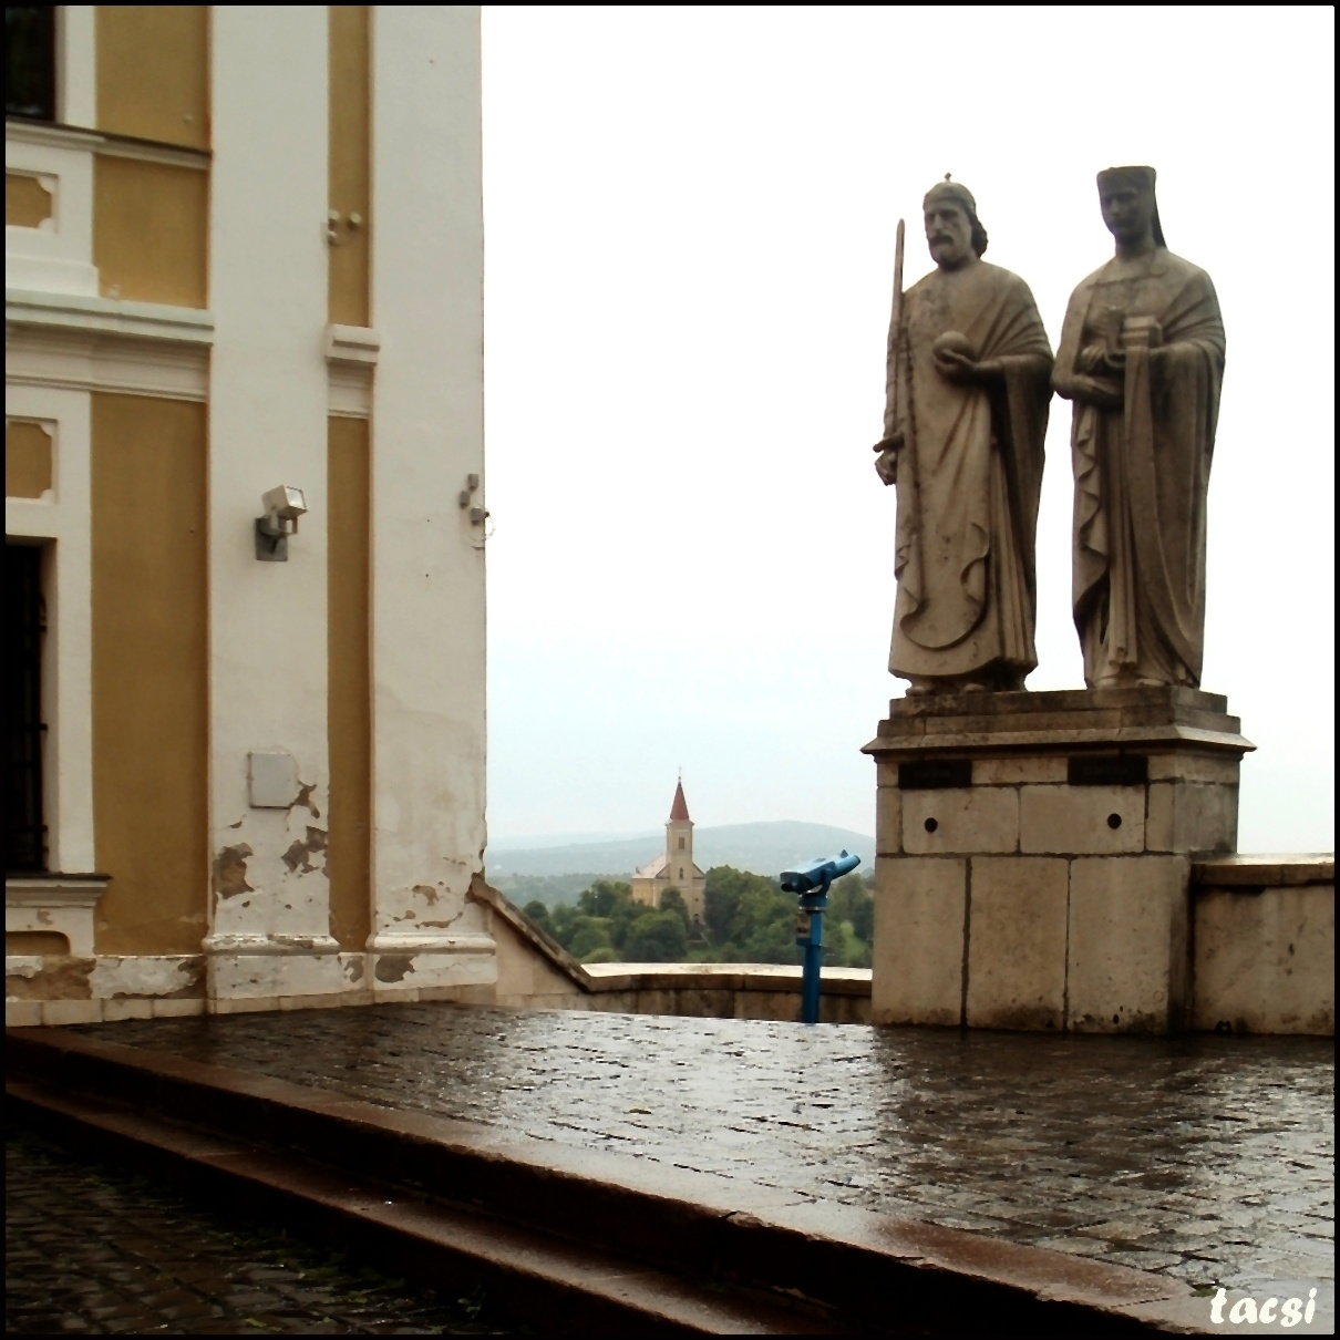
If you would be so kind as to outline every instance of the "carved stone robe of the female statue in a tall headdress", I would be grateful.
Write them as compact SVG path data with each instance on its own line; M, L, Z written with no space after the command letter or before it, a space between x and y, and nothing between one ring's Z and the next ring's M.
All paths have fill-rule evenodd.
M1056 360L1063 395L1085 371L1085 350L1111 350L1132 316L1155 319L1162 344L1127 348L1123 407L1075 402L1072 594L1084 678L1199 685L1223 322L1210 276L1166 248L1110 261L1071 297ZM1122 393L1122 381L1110 385Z

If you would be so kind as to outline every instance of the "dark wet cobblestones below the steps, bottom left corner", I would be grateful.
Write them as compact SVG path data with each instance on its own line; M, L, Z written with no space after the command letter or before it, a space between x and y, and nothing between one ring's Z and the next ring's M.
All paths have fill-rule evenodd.
M458 1335L490 1332L485 1320L474 1301L359 1272L7 1135L7 1333Z

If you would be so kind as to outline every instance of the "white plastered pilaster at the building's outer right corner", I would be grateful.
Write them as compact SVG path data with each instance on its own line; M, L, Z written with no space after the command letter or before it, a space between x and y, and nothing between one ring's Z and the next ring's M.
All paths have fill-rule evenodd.
M374 9L374 909L378 989L493 981L482 868L480 12ZM482 488L473 501L482 505ZM393 955L393 957L387 957Z

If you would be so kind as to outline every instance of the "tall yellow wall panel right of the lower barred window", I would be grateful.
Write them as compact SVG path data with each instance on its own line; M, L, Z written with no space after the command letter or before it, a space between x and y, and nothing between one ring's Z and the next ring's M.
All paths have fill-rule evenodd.
M205 406L92 395L99 954L200 953L208 859Z

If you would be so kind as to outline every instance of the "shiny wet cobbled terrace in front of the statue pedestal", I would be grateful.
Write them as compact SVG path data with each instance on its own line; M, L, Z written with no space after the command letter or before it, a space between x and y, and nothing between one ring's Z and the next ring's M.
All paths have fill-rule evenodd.
M78 1029L1193 1285L1335 1278L1323 1038L1047 1037L386 1005Z

